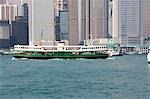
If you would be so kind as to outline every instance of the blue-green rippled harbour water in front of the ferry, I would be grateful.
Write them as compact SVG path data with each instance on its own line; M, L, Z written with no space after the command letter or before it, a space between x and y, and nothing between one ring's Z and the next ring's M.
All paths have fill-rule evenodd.
M28 60L0 56L0 99L150 99L145 55Z

